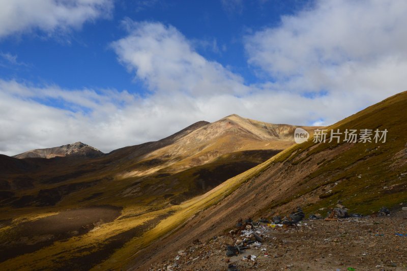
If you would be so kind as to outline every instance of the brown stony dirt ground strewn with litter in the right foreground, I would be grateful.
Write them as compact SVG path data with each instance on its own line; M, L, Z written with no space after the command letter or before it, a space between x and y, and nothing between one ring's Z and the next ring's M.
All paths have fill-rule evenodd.
M153 263L150 270L407 270L407 211L338 221L306 220L298 227L256 228L261 246L227 257L237 235L197 240ZM255 260L244 259L249 255Z

